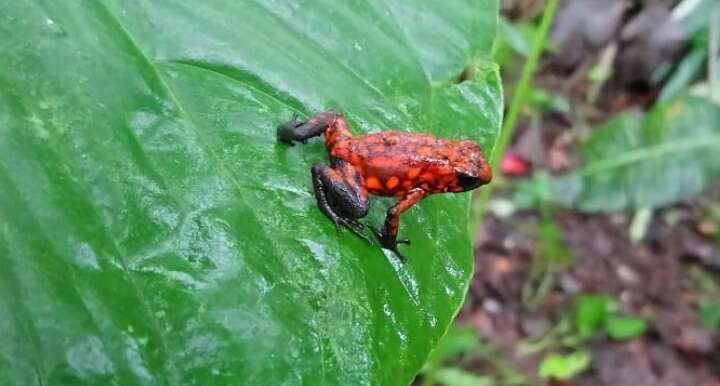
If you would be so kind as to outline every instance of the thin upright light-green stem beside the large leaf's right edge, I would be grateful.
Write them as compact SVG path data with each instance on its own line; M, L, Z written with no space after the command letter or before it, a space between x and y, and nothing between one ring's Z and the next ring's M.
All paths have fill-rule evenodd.
M510 108L508 109L505 121L503 122L502 128L500 129L500 134L495 140L495 146L493 147L493 152L490 156L490 167L495 173L498 173L498 167L500 165L502 155L505 153L505 149L507 148L510 140L512 139L513 133L515 131L515 123L517 122L520 111L522 110L522 107L525 104L525 100L527 99L528 91L530 90L530 82L535 75L535 70L537 69L540 55L542 54L543 49L545 48L545 45L547 43L547 36L550 30L550 25L555 18L555 11L557 10L559 3L560 0L548 0L547 5L545 6L545 11L543 11L540 26L535 33L532 47L530 49L530 55L528 55L528 58L525 61L525 65L523 66L520 79L515 86L512 102L510 103ZM484 217L485 207L487 206L491 194L492 184L481 189L480 197L475 200L475 203L473 205L472 218L470 219L470 224L472 226L471 232L474 232L477 229L477 226Z

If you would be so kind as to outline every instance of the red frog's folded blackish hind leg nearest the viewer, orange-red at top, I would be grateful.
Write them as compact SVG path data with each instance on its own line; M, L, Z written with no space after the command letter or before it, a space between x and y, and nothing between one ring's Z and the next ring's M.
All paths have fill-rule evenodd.
M338 229L343 226L370 242L362 233L363 224L357 221L367 215L369 200L355 168L344 161L334 162L334 168L317 163L312 167L312 181L320 211Z

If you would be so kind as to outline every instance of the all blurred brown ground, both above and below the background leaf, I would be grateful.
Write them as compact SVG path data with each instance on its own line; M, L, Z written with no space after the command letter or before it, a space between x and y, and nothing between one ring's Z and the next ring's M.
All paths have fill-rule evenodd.
M530 16L523 16L522 12L518 15L517 9L508 4L504 9L506 16L521 20L541 10L538 3L542 2L524 3ZM505 180L526 178L533 170L552 174L571 169L578 162L573 130L581 124L592 127L593 123L602 122L618 111L641 111L657 97L660 86L648 84L641 74L632 70L642 71L643 66L653 63L633 62L637 55L627 53L627 44L626 50L622 49L623 43L617 44L620 49L611 62L613 76L598 90L595 103L587 102L588 88L593 86L585 74L590 66L602 60L599 56L608 46L619 42L620 31L633 16L657 4L669 6L674 2L608 0L600 3L607 4L603 7L605 12L598 13L598 17L607 18L605 24L613 31L607 33L604 40L596 39L602 40L602 44L596 46L568 41L572 40L571 36L594 33L597 37L606 33L602 28L577 27L582 24L578 18L582 19L587 9L572 11L577 13L574 16L568 16L567 10L558 14L556 24L565 25L561 28L556 25L554 33L557 35L558 29L565 28L565 36L561 34L559 39L566 45L559 45L559 53L544 59L535 84L567 98L573 106L572 113L543 114L534 123L521 120L508 153L521 160L528 171L515 178L506 175ZM613 11L613 6L618 8ZM662 24L658 22L661 19L653 20ZM643 49L666 52L663 50L667 48ZM577 50L598 54L569 54ZM682 44L670 55L681 53ZM655 53L642 51L642 55ZM510 74L504 80L511 82L511 78ZM512 189L496 189L493 197L511 200ZM527 291L523 287L533 285L531 271L538 259L539 214L530 210L510 215L491 211L477 230L476 273L458 323L474 326L531 384L542 384L536 375L538 363L543 354L557 346L550 342L545 350L534 353L523 352L523 347L551 334L572 308L576 294L608 294L618 301L622 312L644 317L649 323L647 330L625 342L603 337L589 340L585 347L591 356L590 368L569 382L556 384L720 386L720 336L703 328L697 316L700 301L720 299L720 250L715 240L718 224L707 216L717 210L718 203L720 183L700 197L655 210L644 237L636 242L629 236L632 213L554 211L552 217L559 227L561 240L575 256L575 262L555 272L547 294L534 305L523 301L523 292ZM492 367L488 363L475 366L481 370Z

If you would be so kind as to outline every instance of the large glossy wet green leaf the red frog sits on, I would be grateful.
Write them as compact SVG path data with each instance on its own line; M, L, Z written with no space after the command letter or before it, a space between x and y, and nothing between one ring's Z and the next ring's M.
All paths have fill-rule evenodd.
M407 384L467 288L469 195L403 217L402 265L336 234L321 141L274 128L337 108L489 149L497 12L1 1L0 384Z

